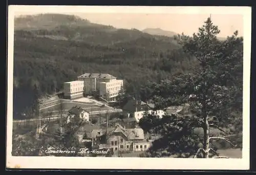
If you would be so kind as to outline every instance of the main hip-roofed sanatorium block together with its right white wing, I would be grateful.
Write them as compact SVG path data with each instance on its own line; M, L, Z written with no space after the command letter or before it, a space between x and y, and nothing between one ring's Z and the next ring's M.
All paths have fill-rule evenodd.
M123 80L117 80L110 74L85 73L77 77L84 82L84 94L94 94L106 100L115 100L123 88Z

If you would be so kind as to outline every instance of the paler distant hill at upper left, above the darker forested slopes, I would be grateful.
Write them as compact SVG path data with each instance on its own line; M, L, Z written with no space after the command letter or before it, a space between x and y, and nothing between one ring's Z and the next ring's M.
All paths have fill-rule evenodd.
M173 38L152 36L137 29L117 29L113 26L91 23L75 15L37 14L16 17L16 33L22 31L27 35L47 37L56 40L86 41L94 45L114 45L119 42L130 42L139 38L155 38L176 43Z

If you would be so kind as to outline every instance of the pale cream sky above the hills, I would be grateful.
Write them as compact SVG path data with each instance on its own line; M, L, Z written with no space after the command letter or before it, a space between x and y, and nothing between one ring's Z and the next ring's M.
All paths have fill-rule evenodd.
M104 12L35 12L35 11L15 11L15 16L38 14L38 13L60 13L60 14L73 14L81 18L86 18L91 23L102 25L111 25L116 28L131 29L135 28L143 30L145 28L160 28L162 30L173 31L191 35L198 32L198 28L202 27L203 22L211 15L212 22L217 25L221 30L219 37L226 37L233 34L238 30L239 36L243 36L243 15L242 14L218 14L218 13L104 13Z

